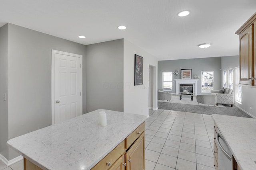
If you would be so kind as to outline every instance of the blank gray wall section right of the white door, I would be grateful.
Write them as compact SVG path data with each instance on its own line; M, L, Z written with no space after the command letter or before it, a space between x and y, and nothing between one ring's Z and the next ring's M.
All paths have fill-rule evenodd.
M86 45L86 113L124 110L124 40Z

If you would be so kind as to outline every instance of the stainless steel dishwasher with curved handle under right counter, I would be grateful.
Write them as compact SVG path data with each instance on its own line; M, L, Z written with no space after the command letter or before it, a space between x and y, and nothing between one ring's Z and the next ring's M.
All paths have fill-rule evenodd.
M232 153L218 130L216 134L216 140L218 143L218 170L232 170Z

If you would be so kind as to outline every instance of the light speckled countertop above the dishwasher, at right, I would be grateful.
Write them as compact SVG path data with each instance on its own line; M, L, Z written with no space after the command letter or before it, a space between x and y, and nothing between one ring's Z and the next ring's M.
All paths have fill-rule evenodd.
M212 114L241 170L256 170L256 119Z

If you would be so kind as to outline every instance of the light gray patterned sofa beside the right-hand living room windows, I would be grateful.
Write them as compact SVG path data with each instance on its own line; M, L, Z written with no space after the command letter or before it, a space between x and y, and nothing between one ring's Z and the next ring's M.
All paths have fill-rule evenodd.
M211 93L216 94L218 104L231 104L233 107L234 104L234 92L231 88L222 87L220 90L211 90Z

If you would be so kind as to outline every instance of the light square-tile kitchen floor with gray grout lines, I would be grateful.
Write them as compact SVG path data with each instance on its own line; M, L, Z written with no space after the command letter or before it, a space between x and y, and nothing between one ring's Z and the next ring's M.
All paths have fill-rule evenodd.
M149 109L146 170L214 170L211 115ZM23 161L0 170L23 170Z

